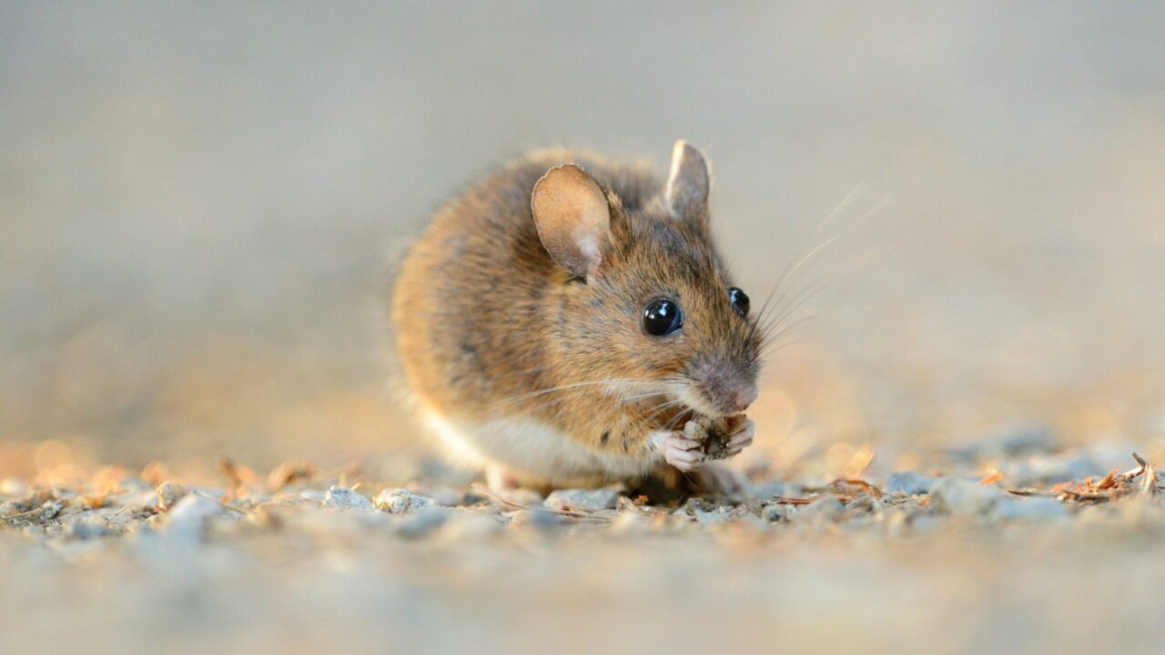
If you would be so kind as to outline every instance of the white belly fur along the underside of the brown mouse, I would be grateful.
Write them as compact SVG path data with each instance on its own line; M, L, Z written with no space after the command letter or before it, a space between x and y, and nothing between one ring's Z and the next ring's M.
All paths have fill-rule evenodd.
M425 411L425 418L451 455L473 466L499 465L548 481L571 478L633 478L658 463L640 457L598 452L562 431L529 418L468 422Z

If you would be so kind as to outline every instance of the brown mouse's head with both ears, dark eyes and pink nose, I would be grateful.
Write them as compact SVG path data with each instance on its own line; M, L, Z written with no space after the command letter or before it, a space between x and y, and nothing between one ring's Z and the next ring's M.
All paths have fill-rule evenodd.
M756 399L761 334L712 247L708 188L704 155L684 141L666 185L634 206L574 164L535 185L538 237L562 273L551 344L571 378L712 417Z

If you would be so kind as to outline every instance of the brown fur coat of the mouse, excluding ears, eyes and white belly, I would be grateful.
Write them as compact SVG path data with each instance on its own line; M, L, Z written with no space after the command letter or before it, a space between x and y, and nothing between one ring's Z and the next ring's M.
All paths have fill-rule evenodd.
M610 242L586 280L551 259L530 209L537 181L571 162L610 209ZM705 177L705 197L706 186ZM672 216L644 164L567 150L531 154L450 200L405 256L394 293L397 346L419 403L460 420L532 418L628 455L687 408L658 413L664 396L624 403L594 385L543 392L682 378L701 401L696 409L730 414L723 386L755 385L760 337L728 298L707 205L685 202L683 211ZM652 337L642 315L659 296L680 304L684 328Z

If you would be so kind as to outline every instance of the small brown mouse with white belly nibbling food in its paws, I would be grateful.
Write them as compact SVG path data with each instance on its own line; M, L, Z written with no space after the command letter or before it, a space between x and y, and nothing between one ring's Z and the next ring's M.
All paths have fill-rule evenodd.
M391 290L421 418L489 487L678 472L716 491L751 444L763 333L711 233L696 146L531 152L432 216Z

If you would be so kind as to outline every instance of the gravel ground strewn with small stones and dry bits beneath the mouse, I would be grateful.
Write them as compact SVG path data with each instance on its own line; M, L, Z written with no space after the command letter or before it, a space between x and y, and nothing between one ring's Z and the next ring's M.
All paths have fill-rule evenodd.
M294 466L8 479L0 653L1156 653L1160 483L1111 451L670 505Z

